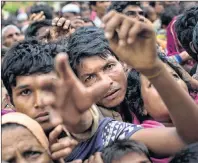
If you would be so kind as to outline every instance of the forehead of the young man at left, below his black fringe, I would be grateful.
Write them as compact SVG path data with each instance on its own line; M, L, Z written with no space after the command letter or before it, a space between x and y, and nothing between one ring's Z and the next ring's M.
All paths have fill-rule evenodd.
M42 78L56 79L57 75L55 72L50 72L46 74L32 74L32 75L24 75L16 77L16 86L18 85L35 85L36 80Z

